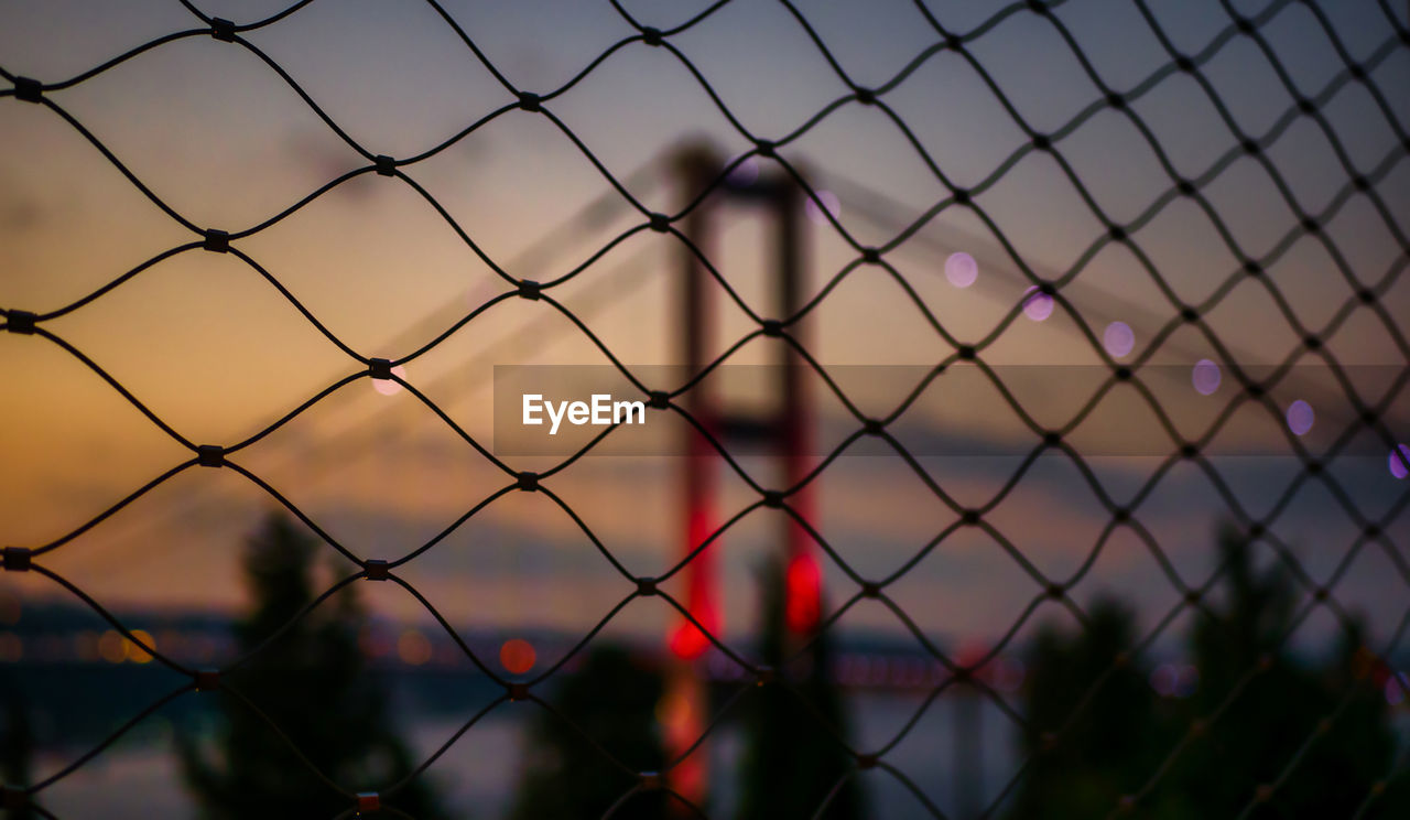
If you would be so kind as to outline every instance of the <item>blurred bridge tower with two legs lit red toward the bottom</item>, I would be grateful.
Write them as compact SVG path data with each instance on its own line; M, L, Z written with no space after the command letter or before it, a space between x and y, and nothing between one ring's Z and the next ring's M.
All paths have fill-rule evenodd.
M689 203L719 176L725 162L708 145L688 145L674 158L674 174L684 203ZM763 477L774 481L773 490L784 491L783 502L791 510L781 511L784 519L783 543L787 550L785 570L785 620L792 644L801 645L816 629L822 613L822 573L814 556L812 539L799 521L811 521L811 488L798 487L809 470L809 446L812 442L812 419L807 401L802 358L794 344L805 346L801 323L790 323L804 305L804 192L784 171L760 172L756 179L732 175L725 183L702 199L685 217L681 227L691 244L706 258L721 258L711 253L713 230L722 203L736 200L763 205L774 222L774 274L777 322L770 320L766 336L777 339L778 360L774 368L777 381L777 409L760 418L759 414L744 415L721 406L712 391L711 380L685 391L680 397L682 409L691 414L701 428L722 443L761 443L764 452L776 456L781 467L777 477ZM691 374L709 363L712 327L715 325L715 296L718 285L711 281L711 272L699 255L689 247L681 250L681 282L677 289L677 316L681 329L681 363ZM766 318L763 309L760 313ZM787 334L787 339L784 337ZM791 342L790 342L791 339ZM681 459L681 493L685 511L684 548L685 553L701 545L719 525L715 510L716 471L719 456L713 446L694 429L685 432ZM794 518L797 515L797 518ZM701 550L682 570L687 583L687 610L691 617L712 635L719 635L721 613L715 586L715 559L719 542ZM708 758L702 748L694 748L705 731L709 713L709 692L697 673L695 661L709 649L709 638L689 620L673 629L670 639L673 670L667 682L668 710L666 727L667 759L677 761L689 754L673 769L671 788L685 797L702 800L708 792Z

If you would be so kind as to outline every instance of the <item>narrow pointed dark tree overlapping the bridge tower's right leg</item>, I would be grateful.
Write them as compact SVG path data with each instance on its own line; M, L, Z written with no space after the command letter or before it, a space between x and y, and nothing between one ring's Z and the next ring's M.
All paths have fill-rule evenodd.
M740 820L852 820L863 814L856 778L843 783L822 814L819 806L853 769L850 755L828 732L847 737L842 697L832 680L832 646L825 631L799 659L788 659L784 625L784 570L771 562L763 572L763 631L759 655L807 700L780 685L750 693L744 714L744 754L740 765ZM809 707L811 704L811 707Z

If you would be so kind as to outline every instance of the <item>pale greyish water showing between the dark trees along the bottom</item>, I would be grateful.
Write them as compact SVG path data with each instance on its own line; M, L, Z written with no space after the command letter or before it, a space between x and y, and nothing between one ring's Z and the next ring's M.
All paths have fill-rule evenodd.
M849 720L859 748L874 751L885 745L921 707L924 693L863 693L852 699ZM979 732L970 748L976 758L957 768L960 747L955 725L959 707L977 706ZM533 704L505 704L475 724L441 755L427 776L455 817L492 820L505 817L512 806L515 785L523 759L525 716ZM420 759L430 756L444 744L461 723L443 716L417 716L407 723L405 738ZM966 783L976 799L986 806L1014 773L1017 755L1011 724L993 704L981 704L971 696L955 697L948 693L932 703L888 751L883 761L904 772L928 799L956 820L973 816L974 806L964 812L962 793ZM737 804L737 792L729 773L742 752L742 734L736 724L723 724L712 741L704 747L715 773L711 817L730 817ZM68 765L82 749L62 755L42 754L35 775L48 776ZM980 765L974 771L973 759ZM977 778L970 778L977 775ZM911 820L931 817L921 802L895 776L873 769L859 775L871 817ZM100 754L41 795L41 804L58 817L106 817L109 820L164 817L171 820L196 819L196 807L183 783L171 742L169 724L151 718L148 730L130 741Z

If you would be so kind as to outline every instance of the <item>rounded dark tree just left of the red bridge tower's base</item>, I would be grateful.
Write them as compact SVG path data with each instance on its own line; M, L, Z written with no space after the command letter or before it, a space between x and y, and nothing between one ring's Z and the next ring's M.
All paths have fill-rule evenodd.
M588 652L582 669L560 682L550 700L557 714L526 704L536 714L510 817L602 817L636 779L612 766L594 744L637 771L660 771L666 754L654 716L663 689L660 672L619 646L602 645ZM668 800L664 792L642 792L618 806L612 817L661 820L670 816Z

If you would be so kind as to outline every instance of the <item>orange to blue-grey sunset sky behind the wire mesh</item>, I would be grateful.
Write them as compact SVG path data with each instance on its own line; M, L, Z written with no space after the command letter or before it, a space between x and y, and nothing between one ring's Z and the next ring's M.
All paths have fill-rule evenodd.
M245 23L279 11L285 1L200 7ZM643 25L661 30L708 6L698 0L623 3ZM962 34L998 8L987 3L931 6L948 30ZM1131 110L1175 171L1198 181L1220 224L1189 198L1162 199L1175 182L1131 120L1098 104L1104 92L1052 21L1019 6L966 48L1032 128L1062 134L1058 154L1111 220L1129 224L1149 215L1129 233L1159 281L1129 248L1103 244L1062 294L1098 344L1112 322L1132 330L1134 349L1118 358L1151 367L1151 388L1183 433L1201 433L1235 395L1231 363L1210 336L1221 342L1232 364L1276 366L1300 349L1304 333L1321 333L1337 322L1323 350L1303 358L1270 392L1280 411L1299 399L1308 402L1316 423L1299 440L1318 452L1355 422L1345 390L1323 367L1321 356L1354 366L1352 381L1368 402L1380 401L1410 360L1404 340L1410 285L1403 275L1410 248L1402 244L1410 231L1410 147L1403 143L1410 124L1410 95L1404 93L1410 48L1396 38L1380 4L1358 0L1324 8L1338 44L1366 65L1369 82L1389 106L1387 119L1366 85L1345 76L1345 62L1304 6L1232 4L1258 16L1279 68L1316 102L1334 144L1313 117L1297 114L1296 100L1268 56L1253 40L1231 30L1218 4L1162 0L1149 6L1173 48L1190 55L1211 49L1200 72L1238 128L1263 143L1276 179L1238 150L1239 137L1206 90L1190 75L1166 68L1172 58L1135 4L1070 0L1053 14L1108 86L1142 89ZM1389 6L1406 27L1404 4ZM444 7L513 86L540 95L637 34L606 1L446 1ZM884 255L953 337L979 342L1024 303L1029 282L1004 241L1035 275L1056 278L1105 236L1055 158L1031 150L980 73L955 52L931 52L940 37L914 4L807 0L797 8L853 82L885 89L880 99L956 185L974 188L1012 159L976 196L1003 239L971 210L952 205ZM55 83L157 37L202 27L175 0L0 3L0 68ZM419 0L320 0L244 37L371 154L417 155L515 102ZM781 154L826 193L819 193L823 207L832 207L860 244L885 246L949 196L897 123L877 106L846 100L852 90L783 4L733 0L668 42L760 138L780 140L845 100ZM258 226L326 182L368 165L252 51L207 35L164 44L45 96L90 130L155 196L202 229L235 233ZM1094 109L1074 130L1060 131L1089 106ZM675 212L694 196L668 174L671 152L685 141L709 141L725 158L752 148L680 58L639 41L613 51L544 109L649 210ZM199 239L54 110L0 97L0 308L35 313L63 308ZM1231 151L1235 155L1224 161ZM1342 191L1349 175L1341 152L1371 178L1371 193L1383 212L1371 195ZM750 161L744 172L756 169L777 172L767 159ZM509 110L402 171L516 278L556 279L646 222L582 150L539 113ZM1299 230L1285 193L1307 213L1325 215L1325 241L1294 236L1280 247ZM592 219L580 219L594 202L605 205ZM857 254L816 205L808 219L805 289L811 296ZM1255 258L1275 248L1279 255L1262 282L1239 279L1198 326L1182 326L1148 350L1156 332L1179 315L1162 282L1179 301L1201 305L1241 268L1221 230ZM774 310L767 281L770 243L759 210L730 205L721 209L721 231L706 248L722 275L763 316ZM343 183L233 244L330 333L368 357L403 357L510 289L409 185L375 174ZM550 292L625 364L678 363L671 295L680 253L675 237L639 231ZM956 253L976 260L973 285L962 288L948 277L946 260ZM1389 277L1389 285L1378 289L1376 309L1347 306L1356 289L1348 272L1366 287ZM713 299L712 350L723 351L756 325L718 287ZM1297 326L1285 318L1285 308ZM234 255L199 248L42 326L197 445L238 442L364 368L255 270ZM871 265L842 278L801 333L823 366L924 368L953 353L895 278ZM730 361L773 361L776 344L754 340ZM1019 312L983 358L1003 366L1001 375L1015 374L1010 385L1015 397L1049 426L1065 423L1103 375L1090 367L1103 364L1103 353L1063 306L1043 320ZM1222 387L1211 397L1200 395L1187 375L1203 358L1224 368ZM406 380L488 445L495 366L605 363L546 303L509 299L407 363ZM1004 370L1018 366L1052 370L1042 378ZM45 339L0 334L0 370L6 374L0 543L54 541L192 456ZM907 391L894 378L859 378L854 398L877 415L900 404ZM821 435L840 440L854 422L826 395L821 380L812 378L811 390ZM1158 436L1148 454L1091 460L1091 470L1121 502L1175 446L1134 391L1117 390L1104 402L1108 415L1098 418L1124 419L1136 435ZM1115 432L1105 423L1080 428L1074 446L1108 446ZM1410 439L1410 399L1396 397L1385 425L1396 440ZM995 442L1008 450L1035 443L987 382L959 371L938 380L897 430L902 440L950 436ZM1289 438L1282 414L1249 405L1237 411L1225 443L1258 442L1265 452L1292 453ZM1334 460L1328 476L1363 515L1379 519L1404 504L1410 481L1387 471L1383 439L1362 430L1352 450L1356 456ZM818 526L857 572L877 577L904 565L955 514L901 459L869 453L842 457L822 474ZM382 395L368 380L345 385L233 460L367 557L410 552L509 481L415 397L406 391ZM541 470L553 463L520 459L515 466ZM1022 459L928 454L919 463L953 497L980 505ZM1211 464L1252 515L1269 511L1299 467L1287 456L1228 456ZM761 477L774 469L761 459L746 459L744 466ZM633 572L656 573L682 550L678 470L680 460L671 456L587 457L556 476L551 487ZM722 473L722 517L756 498L743 481ZM244 594L237 572L241 539L271 505L268 494L230 470L193 467L42 562L104 603L230 610ZM1182 577L1198 583L1213 566L1213 533L1227 510L1210 477L1182 463L1142 501L1136 518ZM1107 519L1097 495L1063 456L1039 459L986 517L1053 577L1076 572ZM760 510L721 543L726 634L752 622L752 572L764 550L773 549L780 526L777 511ZM1359 528L1314 480L1277 518L1273 532L1321 580L1334 572ZM1386 634L1410 600L1410 579L1390 557L1400 550L1404 566L1410 522L1404 515L1392 519L1386 535L1385 542L1361 549L1337 587L1338 597L1371 617L1376 634ZM1273 553L1266 555L1272 559ZM854 584L830 560L823 565L829 597L849 597ZM496 501L407 565L405 576L453 621L508 631L534 625L581 631L630 593L571 519L544 497L527 494ZM0 580L20 584L24 594L62 593L45 579ZM1115 531L1074 597L1086 601L1103 590L1139 598L1148 622L1179 597L1131 528ZM946 639L991 639L1041 587L991 538L959 531L893 591L926 631ZM367 594L386 614L427 617L395 587L369 586ZM653 604L633 604L615 628L664 629L667 613ZM1325 634L1328 622L1314 618L1308 632ZM878 605L859 607L840 628L853 627L900 628Z

